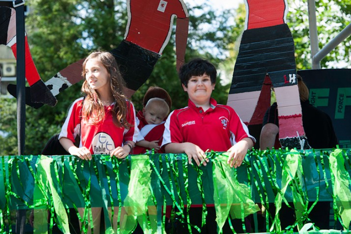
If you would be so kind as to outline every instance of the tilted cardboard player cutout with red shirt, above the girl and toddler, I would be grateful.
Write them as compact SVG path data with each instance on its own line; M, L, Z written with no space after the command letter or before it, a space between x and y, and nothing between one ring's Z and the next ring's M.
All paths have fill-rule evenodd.
M189 18L183 0L127 0L128 24L124 40L110 51L116 58L130 97L150 76L169 42L176 17L176 68L184 62ZM45 84L53 95L83 79L84 59L59 71Z

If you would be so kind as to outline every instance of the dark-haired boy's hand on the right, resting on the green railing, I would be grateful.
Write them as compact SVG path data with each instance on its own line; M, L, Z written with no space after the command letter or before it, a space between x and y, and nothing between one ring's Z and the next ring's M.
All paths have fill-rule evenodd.
M230 152L227 163L234 168L240 167L247 150L252 148L252 146L254 146L254 143L252 142L251 138L244 138L234 146L230 147L230 149L227 151Z

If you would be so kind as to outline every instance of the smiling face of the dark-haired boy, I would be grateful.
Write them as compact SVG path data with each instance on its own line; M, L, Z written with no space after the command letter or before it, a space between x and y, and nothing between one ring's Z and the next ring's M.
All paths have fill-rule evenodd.
M194 104L203 105L209 102L215 84L211 84L211 78L204 73L202 76L190 77L188 87L182 86Z

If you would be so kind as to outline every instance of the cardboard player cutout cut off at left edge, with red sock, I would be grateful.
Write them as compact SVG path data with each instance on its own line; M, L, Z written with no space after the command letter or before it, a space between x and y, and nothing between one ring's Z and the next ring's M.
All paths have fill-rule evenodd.
M7 6L0 6L0 44L10 47L15 58L17 57L16 11L13 8ZM25 37L25 50L25 74L31 94L28 98L30 98L30 101L32 103L44 103L50 106L55 106L57 103L55 96L40 79L38 71L36 70L35 64L29 51L27 35ZM16 96L16 87L14 90L11 90L11 94Z

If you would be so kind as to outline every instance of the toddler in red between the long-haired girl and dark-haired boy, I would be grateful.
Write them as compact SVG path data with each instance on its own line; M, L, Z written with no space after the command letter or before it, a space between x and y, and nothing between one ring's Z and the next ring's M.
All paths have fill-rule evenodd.
M170 108L164 99L154 97L147 101L143 108L144 122L139 121L140 134L134 148L134 154L146 153L147 149L160 150L163 131L165 130L164 119L170 113Z

